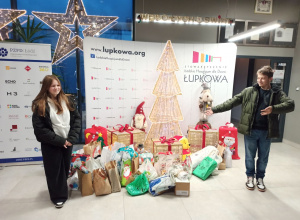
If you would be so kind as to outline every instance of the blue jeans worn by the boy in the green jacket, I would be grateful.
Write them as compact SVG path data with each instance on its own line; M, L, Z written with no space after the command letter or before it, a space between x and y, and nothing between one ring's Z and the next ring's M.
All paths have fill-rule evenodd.
M266 130L251 130L250 135L245 135L245 164L246 175L255 176L256 178L264 178L269 159L269 152L271 146L271 139L267 138L268 131ZM255 156L256 152L258 159L256 161L255 172Z

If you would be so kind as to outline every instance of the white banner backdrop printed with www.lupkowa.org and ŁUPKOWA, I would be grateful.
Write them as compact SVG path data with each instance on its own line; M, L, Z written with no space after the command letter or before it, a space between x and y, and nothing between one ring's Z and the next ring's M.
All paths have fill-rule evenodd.
M156 71L165 43L84 39L86 126L130 124L136 107L145 101L149 114L156 96L152 94ZM182 95L178 101L184 117L183 134L200 118L199 96L204 82L211 88L213 105L232 97L236 45L173 44L180 70L175 72ZM230 121L230 111L209 117L213 128Z

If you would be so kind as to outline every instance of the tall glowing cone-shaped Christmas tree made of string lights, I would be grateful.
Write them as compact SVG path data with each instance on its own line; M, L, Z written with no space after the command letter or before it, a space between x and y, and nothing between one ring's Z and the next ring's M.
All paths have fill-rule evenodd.
M183 116L177 100L181 90L175 75L179 67L171 41L164 48L157 70L160 75L153 89L157 98L149 115L152 124L144 143L147 150L152 147L152 138L182 136L178 121L182 121Z

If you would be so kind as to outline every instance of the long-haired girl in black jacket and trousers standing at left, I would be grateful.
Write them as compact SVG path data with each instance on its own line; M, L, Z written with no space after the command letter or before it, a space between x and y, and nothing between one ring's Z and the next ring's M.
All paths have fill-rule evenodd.
M56 208L62 208L68 199L72 146L79 138L81 118L54 75L43 79L41 91L32 101L32 111L34 134L41 142L50 199Z

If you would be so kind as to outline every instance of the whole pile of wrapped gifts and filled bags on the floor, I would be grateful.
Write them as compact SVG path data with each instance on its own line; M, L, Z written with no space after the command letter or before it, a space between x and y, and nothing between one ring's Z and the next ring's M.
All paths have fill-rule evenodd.
M152 139L150 151L144 148L145 136L129 125L86 129L83 149L72 154L69 187L82 196L116 193L121 187L132 196L168 191L189 196L192 175L206 180L239 159L237 129L230 123L219 129L191 126L187 137Z

